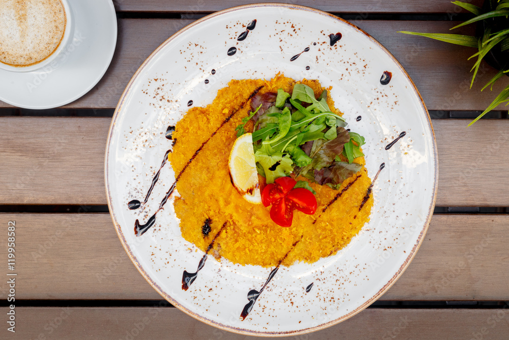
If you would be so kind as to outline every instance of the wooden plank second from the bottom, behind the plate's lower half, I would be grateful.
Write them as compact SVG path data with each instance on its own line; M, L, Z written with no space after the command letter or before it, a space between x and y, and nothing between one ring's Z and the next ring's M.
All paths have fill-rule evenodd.
M108 214L0 214L16 226L16 299L158 300ZM436 215L391 301L509 300L509 215ZM0 236L7 244L7 232ZM72 251L70 251L72 250ZM7 248L0 248L7 258ZM7 298L7 281L0 298Z

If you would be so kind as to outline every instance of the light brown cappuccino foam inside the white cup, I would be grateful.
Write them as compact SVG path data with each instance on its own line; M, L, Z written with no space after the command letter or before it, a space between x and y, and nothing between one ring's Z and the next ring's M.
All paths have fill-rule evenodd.
M59 47L66 29L60 0L0 0L0 62L30 66Z

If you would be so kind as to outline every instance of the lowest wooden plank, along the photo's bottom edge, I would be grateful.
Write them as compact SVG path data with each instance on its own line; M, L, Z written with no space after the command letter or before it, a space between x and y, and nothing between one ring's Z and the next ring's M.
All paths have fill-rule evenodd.
M5 316L8 308L0 308ZM164 307L18 307L15 334L4 325L2 338L23 339L263 339L219 330L177 308ZM368 308L318 332L294 339L503 339L509 308L387 309Z

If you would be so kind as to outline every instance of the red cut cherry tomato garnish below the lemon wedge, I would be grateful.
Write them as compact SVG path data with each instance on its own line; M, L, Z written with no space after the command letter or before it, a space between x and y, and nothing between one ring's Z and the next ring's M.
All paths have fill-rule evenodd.
M267 185L262 191L262 203L272 205L270 218L282 227L292 225L294 209L308 215L314 215L317 210L313 189L307 182L297 182L291 177L279 177Z

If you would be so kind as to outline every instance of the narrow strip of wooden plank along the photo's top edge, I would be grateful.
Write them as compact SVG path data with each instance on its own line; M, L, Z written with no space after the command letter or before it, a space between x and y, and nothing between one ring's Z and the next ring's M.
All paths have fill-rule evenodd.
M115 0L115 8L121 12L169 12L169 13L210 13L234 6L254 4L256 0L234 1L234 0L191 0L187 2L179 2L176 0L145 0L140 3L136 0ZM381 0L315 0L313 2L305 0L294 1L273 1L273 3L290 3L294 5L310 6L316 9L335 13L355 13L362 15L367 13L447 13L456 14L460 12L458 6L454 6L447 1L431 0L431 1L381 1ZM482 1L469 1L477 6L482 6ZM464 13L465 11L461 11Z

